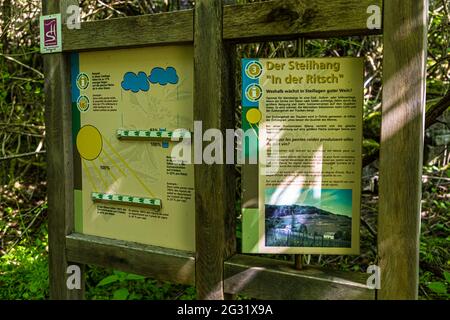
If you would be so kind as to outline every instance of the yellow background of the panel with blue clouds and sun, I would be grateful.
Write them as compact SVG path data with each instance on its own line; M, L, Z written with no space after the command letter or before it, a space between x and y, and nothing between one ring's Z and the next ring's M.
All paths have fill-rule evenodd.
M150 74L155 67L173 67L177 84L152 84L149 91L134 93L121 87L124 74L140 71ZM90 78L90 86L82 91L90 100L87 112L81 113L80 127L90 125L102 136L100 155L82 162L83 232L114 239L135 241L180 250L195 251L195 193L193 165L185 176L166 174L169 148L149 141L119 141L117 129L149 130L178 128L193 130L193 48L165 46L79 54L79 70ZM92 89L94 73L109 75L106 90ZM113 96L118 100L116 111L94 111L94 94ZM75 151L76 152L76 151ZM109 170L104 170L109 167ZM177 183L192 192L185 202L167 200L167 183ZM128 214L98 214L98 204L91 192L122 194L162 200L167 219L131 218ZM101 204L129 210L127 207ZM141 212L152 209L133 208ZM126 211L124 211L126 212Z

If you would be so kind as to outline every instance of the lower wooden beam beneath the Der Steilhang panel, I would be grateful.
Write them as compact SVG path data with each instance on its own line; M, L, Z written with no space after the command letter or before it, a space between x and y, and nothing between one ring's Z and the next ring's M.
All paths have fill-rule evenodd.
M225 262L225 292L273 300L373 300L368 274L310 267L289 261L235 255Z

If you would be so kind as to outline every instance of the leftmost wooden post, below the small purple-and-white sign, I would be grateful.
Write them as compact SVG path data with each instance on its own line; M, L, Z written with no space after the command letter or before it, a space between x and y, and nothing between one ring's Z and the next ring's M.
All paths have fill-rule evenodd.
M66 8L70 4L78 5L78 1L43 0L42 13L61 13L64 21ZM82 299L83 276L80 290L69 290L66 284L67 267L71 265L66 259L66 235L73 232L74 223L72 106L68 55L44 55L44 72L50 298ZM80 269L83 271L82 266Z

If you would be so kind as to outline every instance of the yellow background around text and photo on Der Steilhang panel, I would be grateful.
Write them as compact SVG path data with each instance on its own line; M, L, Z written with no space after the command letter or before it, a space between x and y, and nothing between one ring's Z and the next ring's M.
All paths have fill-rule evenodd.
M323 64L339 64L340 68L338 71L333 72L330 70L295 70L289 69L289 65L295 63L307 63L307 61L314 61L315 63L323 63ZM351 212L351 247L349 248L330 248L330 247L274 247L274 246L266 246L266 233L265 233L265 204L266 197L265 192L267 189L267 183L270 180L276 180L280 176L280 173L277 173L275 176L267 176L261 174L259 177L259 208L260 208L260 219L259 219L259 243L258 243L258 252L260 253L305 253L305 254L358 254L359 253L359 216L360 216L360 198L361 198L361 155L362 155L362 113L363 113L363 60L360 58L310 58L310 59L259 59L259 62L264 66L264 70L260 77L260 85L265 92L262 95L261 100L259 101L259 111L262 114L262 119L259 125L259 129L265 127L266 123L271 122L267 120L267 116L286 116L286 112L278 111L278 109L271 110L270 112L266 110L266 106L268 104L267 97L270 95L272 97L276 97L277 95L280 97L298 97L302 94L300 93L288 93L289 90L324 90L322 93L308 93L306 95L314 97L317 99L316 108L314 112L297 112L290 114L291 117L299 117L302 115L312 115L312 117L321 116L333 116L333 115L352 115L354 118L343 118L336 121L336 126L345 125L355 125L355 129L349 133L342 133L337 131L329 132L327 131L328 122L324 122L327 126L318 131L311 131L310 129L305 130L304 132L296 132L295 134L288 133L283 129L282 136L289 136L291 138L304 138L305 141L298 141L289 143L288 146L280 145L280 153L284 154L292 154L297 159L302 159L305 157L305 154L302 153L301 150L304 149L314 149L316 148L321 155L327 153L328 156L333 156L332 149L342 149L342 150L352 150L351 153L355 157L355 165L354 166L345 166L345 165L336 165L330 167L328 165L321 165L320 172L321 174L317 177L317 179L313 182L306 182L306 178L302 173L299 173L299 168L294 166L289 167L289 165L284 165L284 169L290 169L290 176L285 177L285 181L289 181L287 186L278 186L277 189L280 190L290 190L290 189L311 189L317 190L318 192L323 192L325 189L350 189L352 190L352 212ZM272 70L268 70L269 64L273 66L278 65L280 68L273 67ZM281 68L283 65L283 68ZM330 75L335 74L338 83L322 83L322 84L312 84L306 82L306 77L308 75L311 76L325 76L329 77ZM341 75L341 77L338 77ZM272 76L279 77L280 82L275 83L272 81ZM287 83L290 82L292 77L302 77L303 80L299 84ZM273 90L274 92L281 89L284 93L271 93L268 94L267 90ZM339 92L339 89L350 89L351 92L342 93ZM338 92L328 93L328 90L338 90ZM342 111L340 109L329 108L324 111L321 110L321 103L319 100L321 96L330 97L330 96L349 96L354 97L354 109L351 111ZM289 120L290 125L294 125L296 130L299 127L302 127L305 123L308 125L313 124L310 120L306 122L301 121L292 121ZM272 121L272 123L279 122L281 126L284 126L285 123L283 121ZM313 125L314 126L314 125ZM352 137L354 140L352 142L307 142L307 139L310 137L315 138L334 138L334 137ZM260 137L259 140L259 160L260 163L266 163L266 143L265 139ZM336 153L340 155L341 153ZM330 175L322 174L322 171L336 172L336 171L345 171L349 170L349 168L354 168L355 171L352 173L346 173L342 176L347 179L347 182L337 182L334 187L327 187L325 185L326 182L333 182L336 180ZM260 165L261 169L261 165ZM307 174L311 174L314 168L309 168L307 170ZM283 179L281 179L283 180ZM298 182L296 182L298 180ZM300 201L297 199L297 201Z

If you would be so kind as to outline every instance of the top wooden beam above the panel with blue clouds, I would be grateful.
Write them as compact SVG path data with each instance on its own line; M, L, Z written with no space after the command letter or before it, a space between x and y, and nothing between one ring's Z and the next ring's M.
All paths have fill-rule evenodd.
M63 50L83 51L144 45L191 43L193 10L116 18L63 28Z

